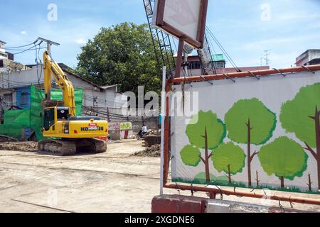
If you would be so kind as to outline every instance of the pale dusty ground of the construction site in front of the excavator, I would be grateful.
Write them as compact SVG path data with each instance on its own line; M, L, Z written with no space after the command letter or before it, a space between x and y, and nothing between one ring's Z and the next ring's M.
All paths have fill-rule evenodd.
M151 199L159 194L160 158L134 156L144 150L141 145L137 140L109 143L107 153L72 157L0 150L0 212L150 212ZM294 208L320 211L319 206Z

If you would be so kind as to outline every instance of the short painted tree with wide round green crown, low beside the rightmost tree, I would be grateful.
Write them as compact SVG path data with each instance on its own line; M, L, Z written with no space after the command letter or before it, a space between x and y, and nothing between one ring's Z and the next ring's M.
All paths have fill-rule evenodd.
M285 136L263 146L258 154L261 166L267 175L279 177L284 188L284 179L302 177L307 167L308 155L299 143Z

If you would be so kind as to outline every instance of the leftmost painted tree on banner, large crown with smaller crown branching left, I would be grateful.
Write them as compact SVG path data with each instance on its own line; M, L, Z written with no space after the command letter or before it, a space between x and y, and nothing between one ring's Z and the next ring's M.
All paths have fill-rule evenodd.
M212 150L223 143L226 135L223 121L212 111L199 111L186 127L186 135L190 145L180 152L183 164L196 167L202 161L206 168L206 181L210 182L209 160L213 156ZM201 149L204 149L204 157Z

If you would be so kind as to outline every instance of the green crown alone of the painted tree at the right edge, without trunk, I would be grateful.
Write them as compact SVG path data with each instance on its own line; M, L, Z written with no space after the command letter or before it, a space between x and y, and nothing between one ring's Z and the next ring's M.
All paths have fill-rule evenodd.
M302 87L293 100L282 105L280 121L289 133L295 133L299 140L316 148L314 116L316 106L320 109L320 83Z

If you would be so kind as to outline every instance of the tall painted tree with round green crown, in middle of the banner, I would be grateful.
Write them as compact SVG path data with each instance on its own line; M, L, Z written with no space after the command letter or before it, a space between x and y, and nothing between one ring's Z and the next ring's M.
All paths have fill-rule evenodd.
M270 140L276 127L277 118L259 99L237 101L225 114L228 138L247 144L248 185L252 186L251 162L257 151L251 153L251 145L262 145Z

